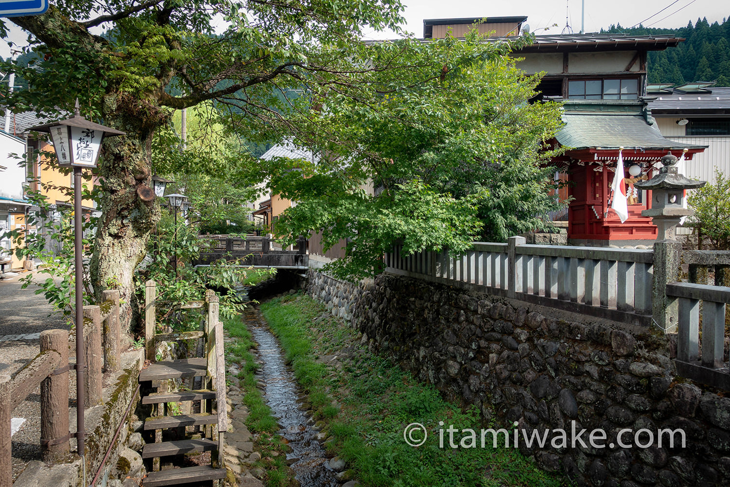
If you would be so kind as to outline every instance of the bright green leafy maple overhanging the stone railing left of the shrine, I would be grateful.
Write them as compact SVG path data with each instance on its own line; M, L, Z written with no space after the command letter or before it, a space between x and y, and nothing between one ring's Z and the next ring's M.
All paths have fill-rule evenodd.
M525 42L483 42L472 31L463 41L363 47L360 65L407 67L367 73L372 91L357 96L320 95L311 130L331 137L312 137L318 164L273 161L270 169L274 193L297 202L277 233L292 242L323 229L325 248L347 239L347 257L328 269L353 278L379 272L395 242L406 254L460 253L474 239L548 226L537 215L558 202L548 196L556 153L545 142L561 120L558 105L529 104L539 75L526 77L506 55Z

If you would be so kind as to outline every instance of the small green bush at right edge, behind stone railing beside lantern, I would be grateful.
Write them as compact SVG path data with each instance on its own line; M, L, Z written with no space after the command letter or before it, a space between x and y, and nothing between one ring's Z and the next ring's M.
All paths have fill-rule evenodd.
M715 184L688 194L687 202L694 209L690 222L699 225L715 250L730 250L730 177L715 169L715 178Z

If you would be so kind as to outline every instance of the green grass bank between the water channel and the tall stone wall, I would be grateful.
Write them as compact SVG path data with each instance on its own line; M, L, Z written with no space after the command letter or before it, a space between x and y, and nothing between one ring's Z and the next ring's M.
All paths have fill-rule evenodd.
M479 434L483 426L477 410L462 410L432 386L372 356L359 344L356 331L309 296L272 299L261 304L261 311L316 414L327 418L326 448L344 459L348 474L364 486L567 485L566 478L543 472L517 450L493 448L491 436L485 448L478 436L477 448L466 448L469 439L455 434L460 448L450 448L449 425ZM410 423L426 426L429 436L423 445L405 442L404 428ZM444 430L443 447L439 429Z

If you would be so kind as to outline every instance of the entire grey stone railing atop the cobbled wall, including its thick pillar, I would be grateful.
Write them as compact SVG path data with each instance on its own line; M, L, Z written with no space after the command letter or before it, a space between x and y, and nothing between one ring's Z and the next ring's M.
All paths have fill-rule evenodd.
M730 391L730 252L682 251L666 241L652 250L525 245L512 237L507 244L475 242L456 258L446 251L406 256L396 245L385 264L394 274L676 331L677 373ZM683 264L690 283L680 282ZM712 273L715 285L708 285Z

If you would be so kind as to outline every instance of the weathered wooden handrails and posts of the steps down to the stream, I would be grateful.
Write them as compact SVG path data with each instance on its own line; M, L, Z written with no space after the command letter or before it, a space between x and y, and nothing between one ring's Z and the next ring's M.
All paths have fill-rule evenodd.
M157 284L154 280L145 283L145 356L155 360L158 342L178 340L204 340L203 353L207 358L207 377L204 387L215 391L218 410L218 462L223 465L223 433L228 429L226 406L226 359L223 342L223 323L218 319L219 299L215 292L205 291L205 300L189 302L180 306L181 310L202 310L201 329L197 331L157 332ZM201 411L203 413L204 411Z

